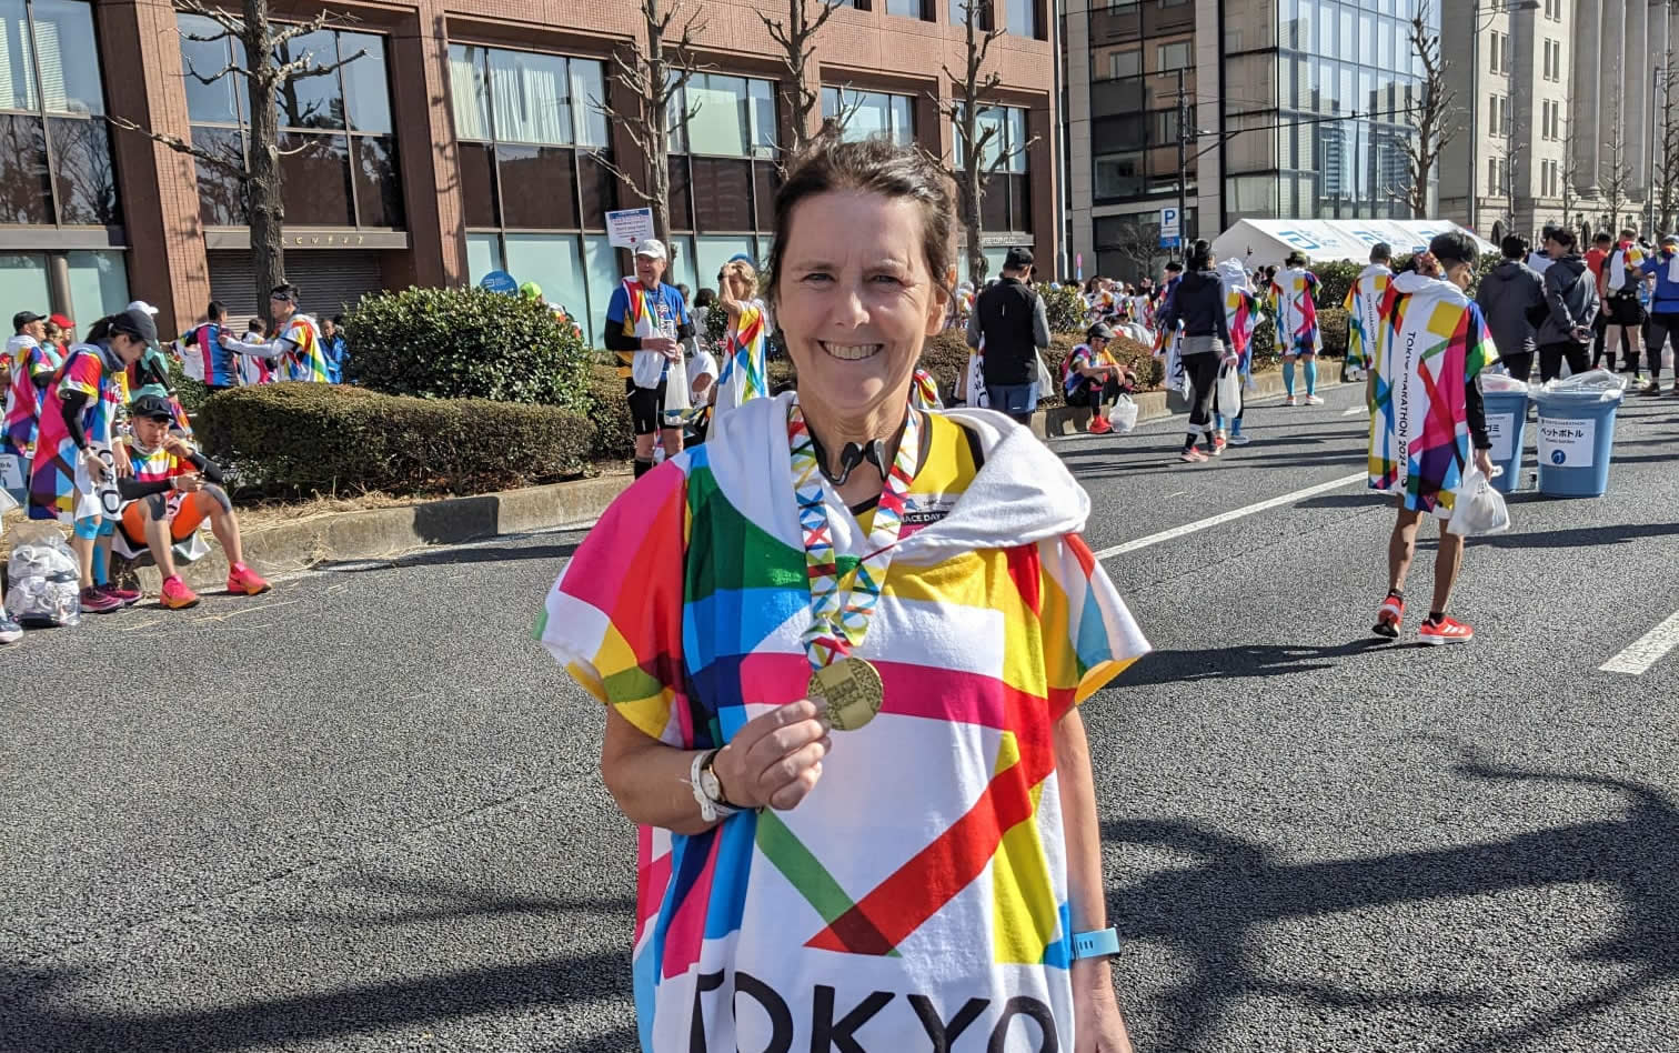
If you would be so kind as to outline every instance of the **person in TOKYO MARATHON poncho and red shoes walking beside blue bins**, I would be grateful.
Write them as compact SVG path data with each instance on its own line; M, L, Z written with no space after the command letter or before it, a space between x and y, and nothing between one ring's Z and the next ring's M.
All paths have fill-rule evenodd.
M1462 568L1464 539L1444 529L1471 464L1493 477L1488 455L1493 442L1478 378L1498 361L1498 349L1481 307L1464 296L1474 280L1474 264L1476 247L1467 233L1441 233L1417 257L1417 270L1395 277L1382 299L1368 381L1370 489L1399 495L1399 521L1389 539L1389 593L1373 628L1378 637L1399 637L1417 526L1432 514L1442 521L1434 601L1417 637L1422 643L1474 638L1474 630L1446 615Z

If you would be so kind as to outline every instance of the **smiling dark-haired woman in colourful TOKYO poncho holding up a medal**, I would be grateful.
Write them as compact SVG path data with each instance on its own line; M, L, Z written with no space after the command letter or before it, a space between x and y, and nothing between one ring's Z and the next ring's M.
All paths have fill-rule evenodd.
M908 410L928 161L823 143L777 217L798 395L631 485L539 626L641 823L641 1048L1128 1053L1076 707L1147 645L1088 499L997 413Z

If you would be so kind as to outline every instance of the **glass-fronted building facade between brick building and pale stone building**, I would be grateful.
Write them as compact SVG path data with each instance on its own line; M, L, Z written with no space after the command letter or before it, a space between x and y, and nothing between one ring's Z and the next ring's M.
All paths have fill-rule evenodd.
M1075 250L1127 277L1162 259L1179 69L1192 116L1187 237L1241 218L1409 218L1419 10L1437 27L1439 7L1419 0L1070 0Z

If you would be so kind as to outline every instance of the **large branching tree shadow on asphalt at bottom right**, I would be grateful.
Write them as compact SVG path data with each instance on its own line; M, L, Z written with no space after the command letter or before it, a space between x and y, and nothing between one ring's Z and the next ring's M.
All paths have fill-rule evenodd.
M1452 1053L1498 1053L1526 1043L1679 979L1679 809L1662 791L1624 779L1486 764L1472 754L1456 767L1467 779L1550 783L1610 789L1624 796L1619 818L1521 833L1503 841L1404 851L1325 863L1286 863L1284 851L1194 823L1113 821L1110 843L1170 848L1199 865L1152 873L1108 890L1110 919L1122 939L1174 947L1190 962L1165 993L1162 1033L1140 1048L1222 1053L1222 1016L1244 998L1308 999L1336 1009L1441 1009L1439 1031L1457 1035ZM1561 984L1570 994L1528 1019L1488 1029L1474 1009L1489 993L1373 993L1328 984L1278 984L1263 976L1263 930L1279 920L1358 912L1420 900L1452 900L1546 885L1592 883L1619 892L1614 932L1575 952L1577 961L1630 967L1597 989ZM1488 988L1498 976L1481 977ZM1387 977L1392 986L1404 976ZM1654 1048L1654 1046L1650 1046Z

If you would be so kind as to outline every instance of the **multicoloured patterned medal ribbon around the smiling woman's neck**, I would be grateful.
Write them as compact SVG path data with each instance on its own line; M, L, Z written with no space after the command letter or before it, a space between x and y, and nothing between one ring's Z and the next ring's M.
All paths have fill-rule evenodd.
M903 499L920 467L920 413L913 408L903 422L898 455L887 474L875 507L875 529L868 534L870 553L846 576L840 578L833 531L828 527L828 497L823 470L816 458L804 411L794 401L787 408L787 448L792 453L792 492L799 500L799 531L804 534L804 573L811 586L811 625L799 637L813 668L824 668L851 653L863 642L870 618L880 603L892 566L898 532L903 527Z

